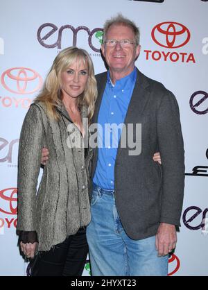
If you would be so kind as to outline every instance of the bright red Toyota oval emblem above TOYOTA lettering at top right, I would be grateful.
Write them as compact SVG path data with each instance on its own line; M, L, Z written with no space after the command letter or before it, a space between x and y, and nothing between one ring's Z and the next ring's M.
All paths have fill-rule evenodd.
M159 46L176 49L184 46L190 40L189 29L177 22L162 22L152 30L152 38Z

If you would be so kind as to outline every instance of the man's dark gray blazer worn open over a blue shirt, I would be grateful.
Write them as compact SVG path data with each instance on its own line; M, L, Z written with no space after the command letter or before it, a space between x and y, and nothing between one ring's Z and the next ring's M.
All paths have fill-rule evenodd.
M107 72L96 76L98 99L94 113L97 123ZM175 96L161 83L137 70L137 80L125 125L141 123L141 153L119 148L114 167L116 207L125 232L132 239L156 234L159 223L180 225L184 195L184 145L180 114ZM135 140L135 130L134 130ZM159 151L162 166L153 161ZM98 148L94 152L92 177Z

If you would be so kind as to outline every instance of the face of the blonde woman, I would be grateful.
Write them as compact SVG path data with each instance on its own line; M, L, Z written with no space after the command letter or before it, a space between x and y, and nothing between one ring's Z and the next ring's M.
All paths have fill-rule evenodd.
M88 66L77 59L61 73L61 90L63 97L77 98L85 90L88 80Z

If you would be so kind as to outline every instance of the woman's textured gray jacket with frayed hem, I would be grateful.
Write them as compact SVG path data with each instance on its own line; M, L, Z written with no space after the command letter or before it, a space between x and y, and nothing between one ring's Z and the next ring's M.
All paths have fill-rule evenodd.
M89 149L69 148L68 142L80 138L78 128L67 132L69 114L61 105L60 120L49 119L44 103L34 103L21 128L18 157L18 220L17 230L36 231L38 250L50 250L78 228L90 221L87 189ZM82 117L87 117L83 108ZM49 149L37 190L42 148Z

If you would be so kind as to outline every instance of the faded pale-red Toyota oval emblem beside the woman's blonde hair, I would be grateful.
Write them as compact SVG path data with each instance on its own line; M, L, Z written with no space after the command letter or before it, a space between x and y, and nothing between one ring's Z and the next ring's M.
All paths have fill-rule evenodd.
M14 67L3 72L1 83L9 92L33 94L42 87L42 77L33 69ZM14 87L16 89L13 89Z

